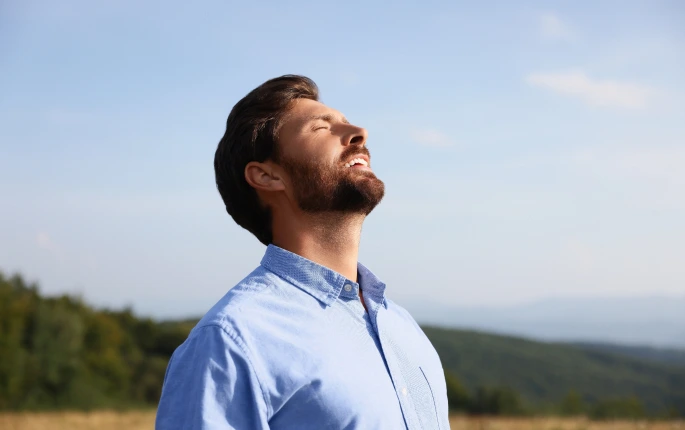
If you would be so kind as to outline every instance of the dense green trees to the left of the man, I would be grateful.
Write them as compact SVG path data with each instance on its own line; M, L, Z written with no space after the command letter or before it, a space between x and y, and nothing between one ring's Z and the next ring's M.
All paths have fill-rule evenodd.
M44 298L0 273L0 410L155 405L189 329Z

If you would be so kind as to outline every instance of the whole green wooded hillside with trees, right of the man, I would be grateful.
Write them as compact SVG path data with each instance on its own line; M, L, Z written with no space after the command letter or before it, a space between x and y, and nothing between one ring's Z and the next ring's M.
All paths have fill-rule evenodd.
M595 418L685 416L680 351L423 330L442 360L453 409Z

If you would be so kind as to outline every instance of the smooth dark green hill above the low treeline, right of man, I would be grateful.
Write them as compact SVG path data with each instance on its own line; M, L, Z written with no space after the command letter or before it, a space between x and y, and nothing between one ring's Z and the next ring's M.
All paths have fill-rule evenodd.
M589 402L636 396L652 412L675 407L685 413L685 367L636 358L638 350L435 327L424 331L443 367L471 389L508 386L538 405L558 402L570 390Z

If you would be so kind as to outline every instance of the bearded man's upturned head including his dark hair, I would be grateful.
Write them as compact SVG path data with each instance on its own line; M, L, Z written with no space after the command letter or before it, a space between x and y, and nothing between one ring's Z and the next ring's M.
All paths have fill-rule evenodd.
M217 188L235 222L264 244L283 202L306 213L366 215L383 198L366 130L318 99L312 80L286 75L252 90L228 116L214 157Z

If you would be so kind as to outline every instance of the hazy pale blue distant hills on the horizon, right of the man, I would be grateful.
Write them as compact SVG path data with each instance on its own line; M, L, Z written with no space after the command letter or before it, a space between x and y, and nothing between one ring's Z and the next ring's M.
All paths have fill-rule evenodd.
M685 296L559 298L510 307L406 305L425 325L545 341L685 348Z

